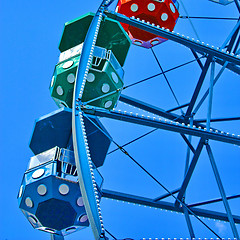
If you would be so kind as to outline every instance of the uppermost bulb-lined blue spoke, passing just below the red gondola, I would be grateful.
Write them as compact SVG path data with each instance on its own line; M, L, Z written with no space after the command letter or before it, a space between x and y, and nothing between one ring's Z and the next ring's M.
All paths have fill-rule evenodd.
M208 46L207 44L201 43L200 41L190 40L189 38L187 38L186 36L182 36L181 34L172 33L166 29L161 29L156 26L146 24L145 22L141 22L140 20L128 18L124 15L121 15L119 13L115 13L112 11L108 11L107 15L108 17L113 18L119 22L127 23L129 25L140 28L147 32L150 32L150 33L159 35L161 37L167 38L169 40L175 41L177 43L180 43L188 48L194 49L199 53L206 53L211 55L212 57L218 57L224 61L229 61L236 65L240 65L240 59L235 55L231 55L229 53L219 51L217 48Z

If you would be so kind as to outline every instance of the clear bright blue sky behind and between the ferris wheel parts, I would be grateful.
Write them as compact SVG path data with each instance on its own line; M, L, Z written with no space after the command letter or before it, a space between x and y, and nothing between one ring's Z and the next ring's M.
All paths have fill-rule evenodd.
M95 12L100 1L1 1L0 4L0 240L50 239L44 232L34 230L18 209L17 193L29 158L33 155L28 143L34 120L57 109L50 97L49 84L58 61L58 43L65 22L89 11ZM190 16L238 17L230 4L226 7L207 0L184 0ZM180 7L180 14L186 15ZM221 46L236 21L192 20L201 39L210 45ZM175 31L194 37L190 23L179 19ZM193 59L189 49L173 42L154 48L164 70ZM159 73L150 50L132 46L125 66L125 84ZM217 66L216 71L219 70ZM193 93L200 69L196 63L172 71L167 77L180 104L187 103ZM209 75L204 89L209 85ZM239 76L226 70L214 89L213 117L239 116ZM202 94L203 92L201 92ZM164 80L154 78L124 94L157 105L164 109L176 106ZM206 117L203 105L196 118ZM140 112L124 104L121 110ZM141 112L140 112L141 113ZM147 115L147 113L144 113ZM103 119L103 124L119 144L149 131L149 128ZM239 121L213 125L230 133L240 134ZM193 139L196 146L198 139ZM227 195L239 194L240 148L225 143L210 142ZM114 146L111 146L113 149ZM183 178L186 144L176 133L158 130L152 135L129 145L127 151L162 182L173 190ZM104 188L157 197L164 192L120 152L110 155L100 169L105 179ZM196 172L189 185L188 202L218 198L212 169L204 149ZM169 198L169 201L172 201ZM184 216L132 204L103 200L101 203L105 227L115 237L155 238L189 237ZM230 206L240 215L240 200L231 200ZM223 210L222 204L213 205ZM228 224L206 221L221 237L232 237ZM197 237L214 237L196 219L193 219ZM237 226L240 231L240 227ZM92 240L87 228L66 239Z

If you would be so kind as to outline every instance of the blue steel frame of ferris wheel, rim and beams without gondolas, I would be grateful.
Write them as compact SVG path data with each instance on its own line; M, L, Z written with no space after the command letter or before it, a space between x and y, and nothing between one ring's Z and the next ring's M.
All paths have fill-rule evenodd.
M222 141L222 142L240 145L240 137L236 137L233 135L230 136L226 133L214 132L210 129L211 104L212 104L211 94L213 91L213 85L216 83L217 79L220 77L221 73L223 72L223 70L226 67L237 73L240 73L240 68L238 66L236 66L236 65L240 65L239 56L230 54L228 52L221 51L221 48L218 49L215 47L210 47L204 43L201 43L198 40L197 41L194 39L190 40L189 37L180 36L180 34L176 34L176 33L170 32L168 30L161 29L159 26L150 25L150 24L147 24L144 21L140 21L138 19L127 18L124 15L121 15L121 14L118 14L115 12L111 12L111 11L107 11L106 7L109 4L111 4L112 2L113 1L110 1L110 0L108 0L108 1L104 0L102 2L101 6L98 9L95 17L93 18L92 24L89 28L89 31L88 31L88 34L86 36L86 40L85 40L85 43L83 46L83 50L82 50L82 56L81 56L80 63L79 63L79 70L78 70L78 74L77 74L77 81L76 81L76 85L75 85L74 100L73 100L73 142L74 142L75 159L76 159L76 165L77 165L78 175L79 175L79 179L80 179L79 184L80 184L80 188L83 193L83 196L84 196L84 204L86 207L86 211L87 211L87 214L89 217L91 227L93 229L93 234L94 234L95 239L102 239L105 237L104 237L104 228L103 228L103 224L102 224L102 220L101 220L99 204L96 202L96 200L97 200L96 194L97 193L96 193L96 189L93 186L94 184L92 181L91 159L90 159L90 156L89 156L89 153L87 150L88 146L86 143L87 140L86 140L86 137L84 134L84 122L82 119L83 112L85 114L96 115L99 117L107 117L107 118L112 118L112 119L116 119L116 120L126 121L126 122L130 122L130 123L136 123L136 124L140 124L140 125L144 125L144 126L149 126L149 127L154 127L154 128L158 128L158 129L164 129L164 130L180 133L188 145L188 151L191 150L194 153L194 156L193 156L190 166L188 168L186 168L187 171L186 171L185 178L184 178L184 181L182 183L180 190L175 190L172 192L172 193L178 192L177 198L180 199L181 201L183 200L183 202L184 202L183 198L185 196L185 192L186 192L188 183L191 179L191 176L193 174L193 171L194 171L197 161L199 159L200 153L205 144L205 141L207 139L212 139L212 140L216 140L216 141ZM239 3L237 2L237 0L235 0L235 3L237 5L237 7L239 8ZM200 67L202 68L202 73L200 75L197 86L193 93L192 99L191 99L190 103L188 104L188 109L187 109L185 116L179 116L177 114L170 113L163 109L157 108L150 104L146 104L144 102L141 102L139 100L136 100L136 99L124 96L124 95L122 95L120 97L120 101L129 103L133 106L140 107L144 110L147 110L149 112L152 112L152 113L162 116L164 118L170 119L172 121L171 122L168 122L165 120L159 121L159 120L155 120L155 119L149 119L149 118L146 118L143 116L141 116L141 117L133 116L131 113L128 114L125 112L120 113L120 112L115 112L115 111L107 111L104 109L98 109L98 108L89 107L86 105L85 106L81 105L81 95L82 95L84 84L86 81L86 76L88 73L89 65L91 63L92 51L93 51L93 48L94 48L94 45L96 42L99 24L101 22L101 17L102 17L102 14L104 11L108 15L108 17L111 17L117 21L130 24L134 27L137 27L139 29L148 31L148 32L156 34L156 35L159 35L161 37L175 41L177 43L180 43L180 44L190 48L195 57L196 57L196 52L199 52L199 53L207 56L207 60L203 67L201 65L201 62L198 61ZM237 26L236 29L238 29L239 22L238 22L238 25L236 25L236 26ZM236 31L235 30L232 31L232 33L231 33L232 35L230 35L229 38L226 40L226 42L228 42L231 39L228 50L230 50L230 48L233 47L234 42L236 40L236 34L235 34ZM192 124L190 126L181 125L179 123L183 123L183 124L190 123L189 118L191 118L192 114L196 113L195 110L193 112L192 112L192 110L196 103L198 94L201 90L203 81L205 79L208 68L209 68L213 58L216 60L216 62L222 64L223 68L220 71L220 73L218 74L218 76L216 77L216 79L214 79L214 73L212 70L211 85L209 88L210 99L209 99L209 111L208 111L208 116L207 116L207 129L204 130L203 128L205 126L202 124L199 124L196 120L193 120L193 119L191 122ZM213 69L213 67L212 67L212 69ZM200 101L200 105L197 106L197 109L201 106L201 103L205 100L207 95L208 95L208 92L205 93L204 97ZM85 103L85 104L87 104L87 103ZM177 123L176 121L179 123ZM193 125L196 125L199 128L196 129L196 127ZM184 134L188 134L190 136L201 137L201 140L199 141L199 144L198 144L196 150L194 149L194 147L191 144L191 139L187 139ZM217 182L219 184L219 183L221 183L221 180L220 180L220 177L218 178L218 174L217 174L218 172L216 170L216 166L214 166L215 162L214 162L213 156L210 152L211 149L210 149L210 147L208 147L208 145L207 145L207 149L208 149L208 153L209 153L209 158L213 165L213 169L214 169L214 173L215 173ZM189 158L189 154L188 154L187 158ZM186 164L186 166L188 166L188 164ZM225 220L225 221L229 220L231 227L233 229L233 232L234 232L234 236L239 238L237 231L234 229L234 226L235 226L234 221L236 223L240 223L240 217L232 216L230 209L227 207L227 204L226 204L227 198L226 198L226 195L224 193L222 186L219 186L219 189L222 194L222 199L223 199L227 214L204 210L204 209L198 209L198 208L191 208L191 210L194 213L196 213L198 216L209 217L209 218ZM138 203L138 204L142 204L142 205L146 205L146 206L153 206L156 208L163 208L163 209L167 209L167 210L171 210L171 211L185 213L185 217L186 217L186 221L188 224L190 235L192 238L195 237L193 228L192 228L192 225L190 222L190 218L189 218L189 214L191 214L191 213L187 209L183 209L183 207L180 206L180 203L178 201L176 201L175 204L159 201L159 199L168 197L171 194L170 195L165 194L156 199L148 199L148 198L133 196L133 195L129 195L129 194L123 194L123 193L118 193L118 192L114 192L114 191L109 191L109 190L103 190L102 194L103 194L103 197L106 197L106 198L118 199L118 200Z

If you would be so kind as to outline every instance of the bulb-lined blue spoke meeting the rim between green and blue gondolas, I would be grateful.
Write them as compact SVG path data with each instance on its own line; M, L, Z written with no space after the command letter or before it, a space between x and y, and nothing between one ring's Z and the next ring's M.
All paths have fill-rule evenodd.
M203 129L199 128L190 128L188 126L183 126L176 122L165 122L163 120L159 121L158 119L153 120L145 117L137 117L133 116L131 113L119 113L114 111L106 111L104 109L97 109L93 107L84 108L83 111L89 115L96 115L99 117L107 117L120 121L136 123L144 126L149 126L153 128L164 129L168 131L173 131L182 134L188 134L192 136L203 137L205 139L212 139L220 142L232 143L236 145L240 145L240 137L231 136L227 133L215 133L215 132L207 132Z

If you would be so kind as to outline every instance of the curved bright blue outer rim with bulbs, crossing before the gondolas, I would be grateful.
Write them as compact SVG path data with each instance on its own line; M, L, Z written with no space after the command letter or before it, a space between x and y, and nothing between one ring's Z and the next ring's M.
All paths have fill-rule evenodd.
M108 4L108 0L103 0L100 8L93 17L88 33L83 44L82 55L78 67L78 73L74 89L73 111L72 111L72 129L73 129L73 146L75 161L78 170L79 185L83 195L83 201L86 207L89 222L95 239L103 239L104 228L100 219L99 206L96 202L97 196L93 186L91 175L91 166L89 163L89 155L86 147L85 129L82 113L79 109L79 100L86 82L87 73L92 61L92 53L96 43L100 22L102 19L103 5Z

